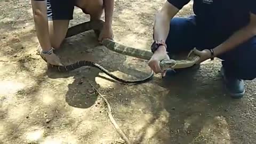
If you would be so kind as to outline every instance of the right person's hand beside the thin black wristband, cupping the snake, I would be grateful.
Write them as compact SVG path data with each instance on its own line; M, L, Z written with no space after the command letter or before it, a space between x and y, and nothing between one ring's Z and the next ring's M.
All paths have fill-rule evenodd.
M200 59L196 62L196 65L198 65L199 63L211 58L211 51L208 50L208 49L204 49L203 51L199 51L195 48L195 49L193 49L189 52L188 57L191 54L195 54L195 55L198 55L200 57Z

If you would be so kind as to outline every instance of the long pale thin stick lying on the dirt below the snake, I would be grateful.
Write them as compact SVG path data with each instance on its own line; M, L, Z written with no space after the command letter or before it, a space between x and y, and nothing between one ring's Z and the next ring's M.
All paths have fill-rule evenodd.
M89 80L88 80L89 81ZM111 123L115 126L115 129L117 130L117 132L121 135L122 139L124 139L124 141L127 143L127 144L131 144L130 140L126 137L126 135L124 134L124 132L120 129L120 127L117 125L113 115L111 114L111 107L108 103L108 100L99 92L98 89L96 89L96 87L94 87L92 85L92 83L89 81L90 85L93 87L93 89L100 95L100 97L105 101L105 103L107 104L108 106L108 117L111 121Z

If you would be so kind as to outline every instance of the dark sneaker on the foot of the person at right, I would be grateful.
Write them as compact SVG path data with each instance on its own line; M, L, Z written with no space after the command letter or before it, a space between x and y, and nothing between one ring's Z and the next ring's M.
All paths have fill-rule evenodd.
M231 77L225 74L225 69L221 67L220 74L225 82L226 89L231 98L240 99L244 96L245 85L242 79Z

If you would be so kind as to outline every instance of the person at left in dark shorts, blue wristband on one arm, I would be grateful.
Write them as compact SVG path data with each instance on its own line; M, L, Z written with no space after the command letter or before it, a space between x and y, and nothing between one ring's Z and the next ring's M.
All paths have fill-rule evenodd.
M39 54L52 65L62 65L53 50L60 48L66 36L75 6L89 14L91 21L99 20L104 10L105 24L98 40L101 42L103 38L113 38L114 0L31 0L31 5L40 44Z

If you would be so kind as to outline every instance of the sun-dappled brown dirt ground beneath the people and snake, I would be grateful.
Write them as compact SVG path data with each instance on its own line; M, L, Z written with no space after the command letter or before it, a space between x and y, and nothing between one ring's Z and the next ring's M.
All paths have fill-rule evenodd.
M116 0L115 41L149 49L155 12L163 3ZM192 13L189 3L179 16ZM76 8L70 27L87 20ZM255 81L246 81L243 99L231 99L219 75L220 60L175 77L122 85L96 68L47 70L36 54L29 0L2 0L0 28L0 143L124 143L89 81L106 95L132 143L256 143ZM125 79L150 74L147 61L107 50L92 31L67 38L58 55L65 64L92 60Z

